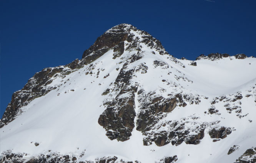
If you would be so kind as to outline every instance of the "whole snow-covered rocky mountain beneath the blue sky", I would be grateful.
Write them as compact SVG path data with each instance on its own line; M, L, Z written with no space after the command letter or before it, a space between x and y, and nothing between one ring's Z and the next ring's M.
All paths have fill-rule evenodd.
M147 32L114 26L14 92L0 160L254 163L255 70L244 54L177 59Z

